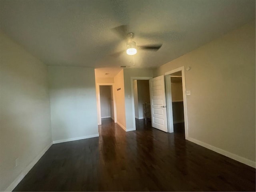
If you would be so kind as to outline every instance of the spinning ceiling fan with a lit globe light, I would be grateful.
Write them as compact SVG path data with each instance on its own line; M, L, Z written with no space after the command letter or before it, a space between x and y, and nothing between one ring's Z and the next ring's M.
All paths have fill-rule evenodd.
M150 51L157 51L161 48L162 44L151 44L151 45L144 45L144 46L137 46L136 42L132 41L134 38L133 32L127 33L127 25L120 25L116 28L112 28L112 30L118 34L122 39L127 41L126 43L126 50L122 50L120 52L116 52L111 54L111 56L118 57L123 52L126 52L128 55L135 55L137 50L150 50Z

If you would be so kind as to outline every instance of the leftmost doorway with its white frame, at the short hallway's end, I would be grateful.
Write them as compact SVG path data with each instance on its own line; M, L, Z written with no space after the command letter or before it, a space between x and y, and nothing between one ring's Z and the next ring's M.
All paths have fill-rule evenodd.
M102 119L111 118L116 123L116 98L114 84L97 84L98 125Z

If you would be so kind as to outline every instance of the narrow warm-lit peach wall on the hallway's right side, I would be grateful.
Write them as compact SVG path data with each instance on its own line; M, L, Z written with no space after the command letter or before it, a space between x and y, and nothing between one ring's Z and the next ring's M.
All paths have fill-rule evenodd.
M115 77L116 92L116 118L117 123L126 130L125 101L124 101L124 71L120 71ZM121 88L121 90L117 90Z

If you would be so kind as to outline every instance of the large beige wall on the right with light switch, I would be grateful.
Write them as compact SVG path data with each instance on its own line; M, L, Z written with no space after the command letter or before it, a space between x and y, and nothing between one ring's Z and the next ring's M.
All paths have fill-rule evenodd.
M160 66L185 72L188 136L255 162L255 21ZM255 166L255 163L254 163Z

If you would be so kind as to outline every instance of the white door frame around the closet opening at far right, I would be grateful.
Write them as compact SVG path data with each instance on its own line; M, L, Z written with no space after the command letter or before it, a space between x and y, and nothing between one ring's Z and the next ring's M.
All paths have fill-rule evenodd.
M165 75L170 75L172 73L181 71L182 74L182 92L183 92L183 108L184 108L184 125L185 125L185 139L188 139L188 110L187 110L187 96L186 96L186 82L185 82L185 68L184 66L173 69L171 71L168 71L165 73ZM171 78L170 78L171 81ZM171 88L170 86L166 86L166 100L167 98L172 97L171 94ZM168 106L167 106L168 107ZM167 121L169 124L173 124L173 118L170 117L172 115L172 108L168 107L169 113L167 113ZM171 126L168 126L168 132L173 130L170 130Z

